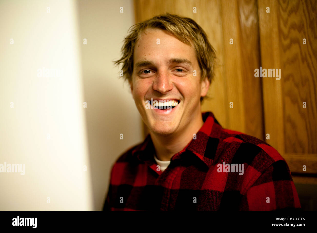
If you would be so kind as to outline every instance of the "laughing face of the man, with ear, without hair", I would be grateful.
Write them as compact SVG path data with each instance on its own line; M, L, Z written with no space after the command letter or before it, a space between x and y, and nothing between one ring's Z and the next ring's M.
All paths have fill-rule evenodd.
M152 133L180 133L201 117L200 97L207 94L209 81L200 82L193 47L165 30L148 29L135 45L133 61L130 82L133 99ZM146 100L151 99L174 100L172 105L177 106L147 109Z

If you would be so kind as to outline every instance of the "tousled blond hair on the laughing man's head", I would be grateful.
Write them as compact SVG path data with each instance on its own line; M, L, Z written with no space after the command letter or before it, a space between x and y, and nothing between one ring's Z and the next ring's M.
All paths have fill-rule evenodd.
M115 65L122 64L121 70L126 80L132 81L134 46L146 29L166 30L181 42L193 46L201 70L201 81L207 77L211 83L214 77L216 51L209 43L205 31L191 18L170 13L154 16L129 29L121 49L122 56L119 60L114 61Z

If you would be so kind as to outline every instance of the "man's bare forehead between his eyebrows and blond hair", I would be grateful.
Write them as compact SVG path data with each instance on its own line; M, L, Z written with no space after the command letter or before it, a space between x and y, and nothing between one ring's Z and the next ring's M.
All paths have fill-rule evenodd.
M186 58L196 60L195 49L178 40L171 33L161 29L146 29L134 47L134 64L139 60L168 60Z

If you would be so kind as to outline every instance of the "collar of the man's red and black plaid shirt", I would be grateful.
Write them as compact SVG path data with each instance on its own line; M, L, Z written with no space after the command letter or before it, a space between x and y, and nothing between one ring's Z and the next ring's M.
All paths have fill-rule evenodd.
M215 119L213 113L202 113L204 124L199 129L196 135L196 139L192 139L183 150L176 153L171 160L179 159L180 156L186 152L192 152L196 155L205 165L210 166L213 164L216 150L221 137L222 127ZM137 156L141 161L153 160L155 149L150 134L146 136L146 139L136 146L132 151L132 156Z

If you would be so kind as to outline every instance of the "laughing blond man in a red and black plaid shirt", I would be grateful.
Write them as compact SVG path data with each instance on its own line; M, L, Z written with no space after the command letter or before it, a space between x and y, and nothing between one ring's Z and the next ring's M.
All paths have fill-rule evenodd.
M160 15L130 30L116 64L150 133L113 165L104 210L300 208L274 148L201 113L215 57L189 18Z

